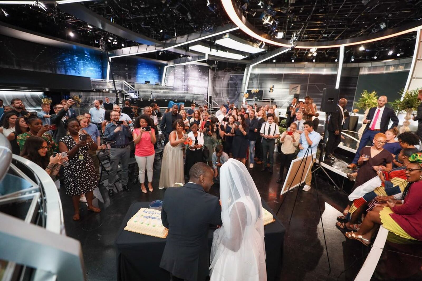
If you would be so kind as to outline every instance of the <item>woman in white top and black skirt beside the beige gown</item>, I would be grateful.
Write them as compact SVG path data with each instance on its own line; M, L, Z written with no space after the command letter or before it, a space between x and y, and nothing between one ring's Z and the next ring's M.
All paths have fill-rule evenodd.
M186 150L185 175L189 176L190 168L197 162L203 162L202 146L204 145L204 134L203 132L198 132L196 123L192 123L187 136L192 140L192 144Z

